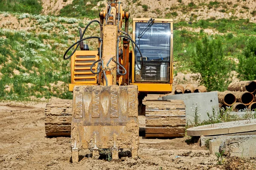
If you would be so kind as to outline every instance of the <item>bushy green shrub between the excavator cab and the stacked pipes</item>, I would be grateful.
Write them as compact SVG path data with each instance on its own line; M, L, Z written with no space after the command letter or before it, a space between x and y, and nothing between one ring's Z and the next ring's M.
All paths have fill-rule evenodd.
M222 91L229 83L228 73L232 63L224 57L221 39L212 39L206 35L196 42L192 62L193 71L201 74L200 83L207 87L208 91Z

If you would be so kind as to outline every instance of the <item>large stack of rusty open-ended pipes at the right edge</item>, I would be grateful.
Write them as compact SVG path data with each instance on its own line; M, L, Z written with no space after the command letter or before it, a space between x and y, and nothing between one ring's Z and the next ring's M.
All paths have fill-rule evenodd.
M228 91L218 92L218 100L223 106L233 106L233 111L256 109L256 82L233 82L228 86Z

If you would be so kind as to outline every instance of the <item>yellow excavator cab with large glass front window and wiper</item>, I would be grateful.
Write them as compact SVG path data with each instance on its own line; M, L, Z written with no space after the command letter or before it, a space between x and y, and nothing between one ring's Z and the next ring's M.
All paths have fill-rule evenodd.
M138 85L140 92L171 92L172 19L134 18L133 28L133 40L139 46L143 57L140 57L138 49L134 48L131 84Z

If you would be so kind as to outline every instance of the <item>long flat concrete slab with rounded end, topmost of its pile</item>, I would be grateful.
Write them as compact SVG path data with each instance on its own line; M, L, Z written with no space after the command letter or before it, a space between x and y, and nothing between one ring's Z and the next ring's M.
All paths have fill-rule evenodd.
M216 123L192 127L186 130L188 136L213 136L230 133L256 131L256 119Z

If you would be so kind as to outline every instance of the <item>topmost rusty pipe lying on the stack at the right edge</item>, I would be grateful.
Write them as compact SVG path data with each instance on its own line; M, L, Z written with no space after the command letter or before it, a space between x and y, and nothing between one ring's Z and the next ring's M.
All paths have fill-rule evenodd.
M253 93L256 91L256 82L255 81L241 81L241 82L232 82L228 85L227 89L229 91L248 91Z

